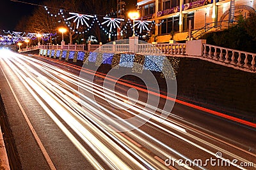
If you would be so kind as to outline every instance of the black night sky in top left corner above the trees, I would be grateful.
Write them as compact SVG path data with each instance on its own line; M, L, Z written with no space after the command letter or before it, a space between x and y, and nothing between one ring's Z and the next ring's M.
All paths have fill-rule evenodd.
M39 4L43 0L20 0L26 3ZM24 4L13 2L10 0L1 0L0 2L0 29L6 31L15 31L15 26L20 18L24 15L31 15L36 6L31 4Z

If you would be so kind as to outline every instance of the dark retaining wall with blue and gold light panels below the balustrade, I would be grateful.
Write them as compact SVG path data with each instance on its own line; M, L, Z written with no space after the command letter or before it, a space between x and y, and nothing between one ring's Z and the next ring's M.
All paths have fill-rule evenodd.
M59 52L56 50L40 50L39 53L40 55L56 59L73 60L73 62L83 60L83 63L89 57L89 62L95 62L95 65L97 65L97 62L101 63L102 59L104 59L104 55L106 55L92 52L70 53L69 51L64 52L60 50ZM142 57L143 59L140 58L140 60L138 60L136 57ZM127 58L127 56L125 56L125 58ZM150 63L147 63L147 59L155 60L154 58L157 57L150 58L144 55L136 55L130 62L137 62L143 66L148 66L149 70L155 74L159 81L160 89L164 90L165 80L161 71L168 71L169 68L164 65L163 60L161 60L161 62L163 62L161 69L159 69L159 67L150 66ZM167 59L172 64L176 74L178 97L191 103L211 108L212 110L221 111L222 113L243 118L250 122L256 122L255 73L232 69L200 59L187 57L167 57ZM126 62L127 61L129 61L129 59L126 60ZM129 65L130 62L126 64ZM120 67L127 67L130 71L140 72L145 69L141 67L125 66L125 64L123 66L120 56L115 55L112 56L111 61L108 60L108 62L104 64L105 66L102 66L105 68L100 68L104 73L108 73L111 67L115 67L118 64ZM110 64L110 66L106 67L106 64ZM173 75L170 74L168 76L170 76L168 77L170 81L173 81ZM136 79L132 78L132 81L136 81Z

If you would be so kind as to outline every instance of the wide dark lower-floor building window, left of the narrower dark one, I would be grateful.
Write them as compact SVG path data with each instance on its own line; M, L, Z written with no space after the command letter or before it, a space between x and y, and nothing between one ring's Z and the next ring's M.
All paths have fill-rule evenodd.
M179 17L170 17L163 20L159 34L170 34L171 32L179 32Z

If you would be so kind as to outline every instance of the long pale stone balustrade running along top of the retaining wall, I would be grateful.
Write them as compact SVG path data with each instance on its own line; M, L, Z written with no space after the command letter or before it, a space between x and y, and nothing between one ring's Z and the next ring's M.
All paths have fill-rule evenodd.
M135 47L135 48L134 48ZM85 51L85 45L40 45L32 48L25 48L20 52L26 52L35 49L48 50L72 50ZM133 49L131 51L131 48ZM87 51L102 51L106 53L127 53L135 52L143 55L170 55L173 57L192 57L202 60L208 60L215 64L233 67L243 71L256 72L255 56L256 53L242 52L221 46L209 45L205 39L198 39L187 41L186 43L160 43L160 44L106 44L106 45L92 45L88 44Z

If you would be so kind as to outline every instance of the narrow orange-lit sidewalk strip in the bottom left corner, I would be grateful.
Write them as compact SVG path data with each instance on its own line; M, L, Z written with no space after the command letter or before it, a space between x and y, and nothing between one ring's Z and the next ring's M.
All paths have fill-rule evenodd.
M0 126L0 170L9 170L9 161L6 153L6 149L4 146L3 133L1 131Z

